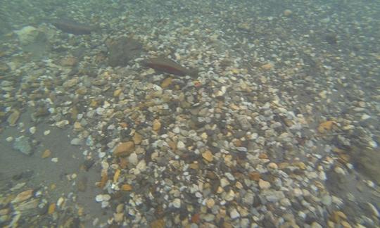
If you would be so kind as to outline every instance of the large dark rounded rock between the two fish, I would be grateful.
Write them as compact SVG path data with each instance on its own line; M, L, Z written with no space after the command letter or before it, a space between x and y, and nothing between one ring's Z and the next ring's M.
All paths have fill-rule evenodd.
M129 61L140 56L142 45L135 39L122 37L108 45L110 56L108 64L112 67L126 66Z

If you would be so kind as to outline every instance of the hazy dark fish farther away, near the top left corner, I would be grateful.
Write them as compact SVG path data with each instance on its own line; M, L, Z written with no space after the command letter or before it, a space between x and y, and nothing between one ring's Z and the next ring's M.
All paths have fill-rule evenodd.
M58 28L58 30L72 34L90 34L96 30L94 26L78 23L70 19L52 20L51 24Z

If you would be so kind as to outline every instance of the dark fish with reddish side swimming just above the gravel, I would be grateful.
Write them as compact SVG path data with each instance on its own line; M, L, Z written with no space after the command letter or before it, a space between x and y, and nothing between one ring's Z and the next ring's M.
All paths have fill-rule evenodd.
M148 60L142 61L142 63L148 66L149 68L153 68L154 70L160 72L167 72L172 75L189 75L191 77L196 77L198 75L198 70L185 68L184 66L179 65L178 63L172 61L169 58L150 58Z

